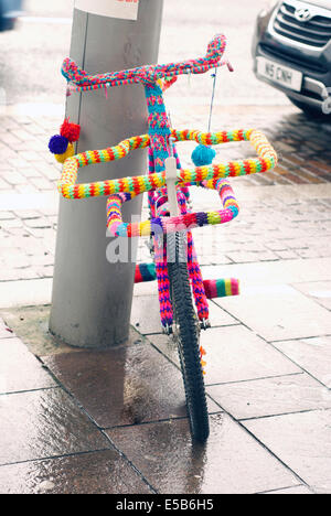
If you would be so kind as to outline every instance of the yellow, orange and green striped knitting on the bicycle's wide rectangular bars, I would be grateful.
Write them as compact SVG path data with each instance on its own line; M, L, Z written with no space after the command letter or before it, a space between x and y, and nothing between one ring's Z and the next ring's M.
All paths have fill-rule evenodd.
M188 184L199 184L205 180L221 178L234 178L258 172L267 172L276 166L277 154L268 142L267 138L256 130L235 130L214 133L200 131L177 131L171 130L174 141L195 140L197 142L212 142L213 144L229 141L250 141L259 158L239 161L229 161L195 169L182 169L178 171L179 186ZM150 146L151 138L148 135L132 137L121 141L116 147L105 150L86 151L67 159L63 166L61 180L57 184L58 192L66 198L86 198L102 195L113 195L115 193L130 193L132 196L145 192L158 190L166 185L164 172L150 173L136 178L124 178L119 180L98 181L85 184L75 184L78 170L94 163L104 163L125 158L131 150L145 149Z

